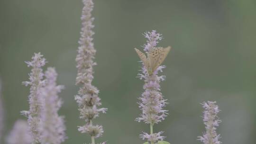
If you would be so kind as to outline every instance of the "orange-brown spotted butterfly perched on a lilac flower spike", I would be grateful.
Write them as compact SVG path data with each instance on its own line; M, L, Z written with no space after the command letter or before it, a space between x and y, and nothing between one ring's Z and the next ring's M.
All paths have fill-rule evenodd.
M155 70L160 66L160 64L164 62L170 49L171 49L171 46L168 46L166 48L155 47L152 51L146 53L147 57L137 48L135 48L135 51L137 52L143 64L145 65L147 73L149 75L152 75L153 72L155 72Z

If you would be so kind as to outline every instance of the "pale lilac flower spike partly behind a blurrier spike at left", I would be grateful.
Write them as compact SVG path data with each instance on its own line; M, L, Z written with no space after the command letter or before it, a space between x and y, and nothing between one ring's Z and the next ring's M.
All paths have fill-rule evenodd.
M41 103L39 101L40 89L45 85L43 81L43 70L42 66L46 64L46 59L40 53L35 54L32 57L31 62L26 62L28 67L32 67L29 75L29 81L24 81L22 84L30 86L30 95L28 96L29 110L21 111L28 119L28 125L30 134L32 136L32 144L40 143L40 134L38 126L40 122Z

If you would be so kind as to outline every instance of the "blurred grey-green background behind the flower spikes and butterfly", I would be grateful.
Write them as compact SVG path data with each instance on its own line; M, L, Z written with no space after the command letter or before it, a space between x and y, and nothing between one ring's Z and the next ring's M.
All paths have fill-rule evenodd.
M155 126L171 144L200 144L204 131L201 102L216 100L222 110L218 128L224 144L256 144L256 1L255 0L94 0L94 44L97 49L93 84L109 108L95 123L105 133L96 142L142 144L138 135L149 126L139 117L143 81L134 47L146 43L142 33L157 30L159 46L173 49L162 73L162 92L169 116ZM28 109L29 61L41 52L55 66L65 85L68 139L64 144L90 143L80 134L74 95L78 87L75 56L81 28L81 0L0 0L0 77L8 135L21 110ZM45 69L46 69L45 67ZM2 142L3 143L3 142Z

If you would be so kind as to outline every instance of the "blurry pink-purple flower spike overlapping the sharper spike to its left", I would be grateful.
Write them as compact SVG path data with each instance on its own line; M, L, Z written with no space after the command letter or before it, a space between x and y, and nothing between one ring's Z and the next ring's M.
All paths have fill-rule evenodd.
M57 73L55 68L49 67L45 72L46 85L41 88L40 101L41 124L40 134L42 144L61 144L65 140L64 117L58 116L58 110L62 105L58 93L64 89L62 85L56 85Z

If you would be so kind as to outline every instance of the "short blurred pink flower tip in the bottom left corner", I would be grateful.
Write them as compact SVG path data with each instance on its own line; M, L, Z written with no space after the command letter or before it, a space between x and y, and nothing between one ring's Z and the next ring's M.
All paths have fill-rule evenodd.
M7 137L7 144L31 144L32 139L28 133L29 128L24 120L17 120Z

